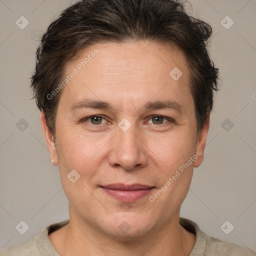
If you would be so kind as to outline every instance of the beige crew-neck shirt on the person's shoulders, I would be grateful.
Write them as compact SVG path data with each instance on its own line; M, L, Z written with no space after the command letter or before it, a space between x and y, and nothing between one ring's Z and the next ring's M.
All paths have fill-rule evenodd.
M45 226L33 239L0 251L0 256L60 256L50 242L48 233L67 224L69 220ZM196 236L190 256L255 256L256 251L204 233L190 219L179 217L179 223Z

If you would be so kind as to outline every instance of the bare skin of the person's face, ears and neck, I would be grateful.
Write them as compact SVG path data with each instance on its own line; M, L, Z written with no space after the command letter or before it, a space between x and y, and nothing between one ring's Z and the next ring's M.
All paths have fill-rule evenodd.
M69 201L69 224L48 234L50 241L61 256L189 255L195 235L179 225L179 212L193 167L203 160L209 116L197 134L184 55L174 46L152 41L97 43L68 62L65 75L95 48L96 56L61 91L55 141L41 113L44 137ZM183 73L176 81L169 75L174 67ZM69 110L85 97L109 101L114 109ZM175 100L181 111L142 108L156 99ZM102 115L101 124L100 118L80 122L91 115ZM163 118L156 122L151 115ZM123 118L131 124L127 131L118 127ZM201 155L149 201L197 151ZM74 183L66 176L72 169L80 174ZM154 188L134 202L120 202L100 187L117 182ZM118 228L123 221L130 226L125 233Z

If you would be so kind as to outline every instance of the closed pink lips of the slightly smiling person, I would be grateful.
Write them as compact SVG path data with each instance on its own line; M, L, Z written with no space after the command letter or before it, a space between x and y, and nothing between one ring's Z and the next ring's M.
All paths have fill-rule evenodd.
M145 184L114 183L100 186L107 194L122 202L134 202L146 196L154 186Z

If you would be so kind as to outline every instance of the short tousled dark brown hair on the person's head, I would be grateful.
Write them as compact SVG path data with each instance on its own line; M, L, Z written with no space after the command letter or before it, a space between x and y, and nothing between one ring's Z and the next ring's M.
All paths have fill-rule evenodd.
M218 68L206 49L206 22L189 16L178 0L80 0L61 12L41 38L31 77L33 98L55 138L55 118L65 63L96 42L151 40L178 46L190 71L197 131L203 127L217 90Z

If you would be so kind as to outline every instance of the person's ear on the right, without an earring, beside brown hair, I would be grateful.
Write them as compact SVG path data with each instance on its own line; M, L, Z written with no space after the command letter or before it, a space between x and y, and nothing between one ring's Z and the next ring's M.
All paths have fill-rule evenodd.
M197 154L198 157L194 161L194 167L198 167L202 163L202 160L204 157L203 152L204 152L204 148L205 148L206 137L207 137L207 133L209 130L209 124L210 124L210 113L207 114L206 122L205 122L203 128L201 129L200 133L197 136L196 152L198 152L198 154Z

